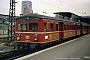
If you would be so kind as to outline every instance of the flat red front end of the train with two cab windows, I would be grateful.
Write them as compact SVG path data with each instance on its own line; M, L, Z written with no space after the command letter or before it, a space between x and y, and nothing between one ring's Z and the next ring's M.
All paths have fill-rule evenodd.
M41 32L42 20L17 20L15 30L15 42L43 44L44 34Z

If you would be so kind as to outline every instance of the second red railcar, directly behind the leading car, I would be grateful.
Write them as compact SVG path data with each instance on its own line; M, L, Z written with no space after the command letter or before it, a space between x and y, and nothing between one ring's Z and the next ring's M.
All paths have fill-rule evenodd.
M61 23L61 38L68 39L76 36L75 22L69 20L63 20Z

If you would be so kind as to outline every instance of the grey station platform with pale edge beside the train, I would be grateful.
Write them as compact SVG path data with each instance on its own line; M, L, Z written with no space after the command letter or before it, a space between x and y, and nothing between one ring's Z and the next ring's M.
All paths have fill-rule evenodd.
M90 60L90 34L15 60Z

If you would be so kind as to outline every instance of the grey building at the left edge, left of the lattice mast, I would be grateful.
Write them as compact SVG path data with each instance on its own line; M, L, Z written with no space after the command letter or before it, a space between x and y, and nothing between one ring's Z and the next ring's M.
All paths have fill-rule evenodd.
M15 18L17 18L16 16ZM12 21L15 22L15 21ZM9 28L9 15L0 14L0 36L7 35Z

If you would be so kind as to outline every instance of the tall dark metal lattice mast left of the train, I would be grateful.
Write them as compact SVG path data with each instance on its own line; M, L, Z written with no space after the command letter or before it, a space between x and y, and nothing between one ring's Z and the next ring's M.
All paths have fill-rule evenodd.
M13 22L15 22L15 0L10 0L10 9L9 9L9 28L8 28L8 45L14 41L14 32Z

